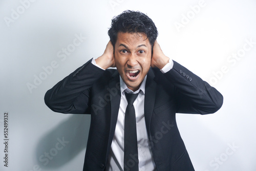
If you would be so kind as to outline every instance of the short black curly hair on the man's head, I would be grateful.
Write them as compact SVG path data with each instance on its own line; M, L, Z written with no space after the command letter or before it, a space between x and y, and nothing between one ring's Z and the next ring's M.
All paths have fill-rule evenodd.
M112 19L108 34L114 48L118 32L144 33L150 41L152 48L158 36L157 28L150 17L140 11L131 10L123 11Z

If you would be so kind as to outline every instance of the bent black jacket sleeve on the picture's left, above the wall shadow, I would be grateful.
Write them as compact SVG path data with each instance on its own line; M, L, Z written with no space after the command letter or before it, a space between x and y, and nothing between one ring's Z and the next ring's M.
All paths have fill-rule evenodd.
M59 113L88 113L90 110L90 88L104 70L94 66L92 59L59 81L45 94L46 105Z

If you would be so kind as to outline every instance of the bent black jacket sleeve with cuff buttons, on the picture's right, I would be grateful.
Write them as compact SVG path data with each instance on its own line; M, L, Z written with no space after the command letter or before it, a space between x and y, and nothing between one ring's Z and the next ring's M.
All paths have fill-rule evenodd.
M221 108L221 93L178 62L164 75L175 86L177 113L210 114Z

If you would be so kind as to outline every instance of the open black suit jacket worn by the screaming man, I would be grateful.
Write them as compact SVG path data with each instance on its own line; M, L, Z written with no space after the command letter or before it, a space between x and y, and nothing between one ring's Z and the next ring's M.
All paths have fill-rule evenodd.
M91 115L83 170L104 170L120 104L117 70L101 70L90 60L50 89L45 102L55 112ZM175 61L165 74L150 69L144 115L157 170L194 170L178 131L176 113L215 113L222 103L215 88Z

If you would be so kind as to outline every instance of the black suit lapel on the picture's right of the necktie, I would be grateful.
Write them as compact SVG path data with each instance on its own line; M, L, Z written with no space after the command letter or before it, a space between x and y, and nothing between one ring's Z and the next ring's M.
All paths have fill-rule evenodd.
M154 104L156 100L157 83L154 81L154 73L152 69L148 71L145 86L144 116L147 128L147 134L150 136L151 118L153 114Z

